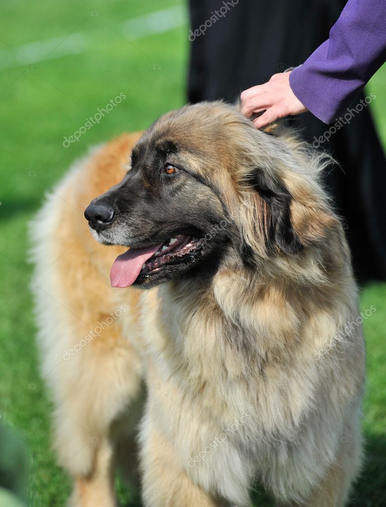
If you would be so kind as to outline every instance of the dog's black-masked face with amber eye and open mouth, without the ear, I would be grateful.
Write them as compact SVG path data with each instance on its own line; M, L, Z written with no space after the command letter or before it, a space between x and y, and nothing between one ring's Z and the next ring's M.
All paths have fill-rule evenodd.
M196 124L190 132L183 117L170 120L161 118L143 135L122 182L94 199L85 212L100 242L139 252L134 261L123 257L117 263L119 273L112 280L117 286L150 288L196 268L201 274L213 271L230 241L221 196L205 177L207 165L217 157L209 161L205 153L210 139L200 143L204 125ZM132 281L139 258L141 270Z

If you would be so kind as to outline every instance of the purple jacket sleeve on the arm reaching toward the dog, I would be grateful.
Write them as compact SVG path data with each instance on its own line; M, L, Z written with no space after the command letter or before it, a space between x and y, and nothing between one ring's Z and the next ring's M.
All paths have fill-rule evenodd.
M330 38L290 74L290 86L324 123L333 122L386 59L386 0L348 0Z

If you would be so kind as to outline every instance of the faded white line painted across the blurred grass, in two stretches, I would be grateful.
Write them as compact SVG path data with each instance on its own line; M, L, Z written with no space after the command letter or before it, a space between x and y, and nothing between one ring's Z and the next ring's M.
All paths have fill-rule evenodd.
M186 10L183 6L174 6L129 19L123 23L122 31L127 39L134 41L146 35L172 30L185 23ZM54 37L24 44L15 50L0 51L0 69L83 53L87 48L88 39L87 32L75 32L67 37Z

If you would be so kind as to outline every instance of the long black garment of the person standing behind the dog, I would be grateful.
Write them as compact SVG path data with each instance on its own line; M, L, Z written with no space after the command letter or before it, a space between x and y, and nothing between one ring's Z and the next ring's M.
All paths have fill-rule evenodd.
M191 43L190 102L219 98L234 102L242 90L299 65L328 39L345 2L233 0L233 4L190 0L193 33L211 16L218 17L215 22L212 17L212 26L203 28L204 33ZM215 12L221 7L227 7L223 17ZM361 98L363 95L350 107ZM291 118L289 123L300 128L311 143L329 129L311 113ZM321 148L341 165L326 171L325 182L337 213L344 218L356 275L360 280L386 279L386 160L369 107Z

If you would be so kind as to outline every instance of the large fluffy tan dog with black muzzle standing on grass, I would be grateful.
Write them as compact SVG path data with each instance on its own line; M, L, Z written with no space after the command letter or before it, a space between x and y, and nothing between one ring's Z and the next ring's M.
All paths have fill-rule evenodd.
M280 504L345 503L364 344L358 325L342 335L357 289L325 164L202 103L98 148L49 196L36 293L72 505L114 505L116 421L141 378L146 506L249 505L255 483Z

